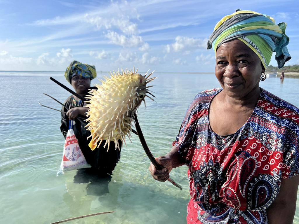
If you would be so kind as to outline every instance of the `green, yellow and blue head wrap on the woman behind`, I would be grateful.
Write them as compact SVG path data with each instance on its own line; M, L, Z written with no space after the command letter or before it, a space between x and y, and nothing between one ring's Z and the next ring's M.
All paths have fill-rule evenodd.
M75 75L94 79L95 77L97 77L97 72L94 65L87 65L81 62L73 61L65 70L64 76L66 81L71 83L71 78Z

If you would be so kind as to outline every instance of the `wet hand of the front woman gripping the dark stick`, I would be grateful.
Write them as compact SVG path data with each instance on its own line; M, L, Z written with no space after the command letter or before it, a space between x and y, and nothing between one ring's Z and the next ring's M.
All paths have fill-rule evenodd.
M149 171L155 180L164 182L169 178L169 173L172 170L172 160L169 157L160 156L155 158L157 163L163 166L161 170L157 170L155 166L150 163Z

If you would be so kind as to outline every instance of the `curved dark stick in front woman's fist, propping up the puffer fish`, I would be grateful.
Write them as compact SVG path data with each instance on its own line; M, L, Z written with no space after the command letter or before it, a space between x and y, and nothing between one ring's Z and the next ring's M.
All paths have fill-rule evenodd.
M139 140L141 142L141 145L142 145L145 153L147 154L147 157L149 158L149 160L152 162L152 164L155 166L156 169L161 170L163 167L160 164L158 164L158 162L155 160L155 157L152 155L151 151L149 151L149 147L147 146L147 142L145 141L144 136L142 134L136 113L134 113L134 122L135 122L135 127L136 127L136 130L138 133ZM173 185L175 185L177 188L179 188L180 190L183 190L181 185L177 184L170 177L167 180L169 182L171 182Z

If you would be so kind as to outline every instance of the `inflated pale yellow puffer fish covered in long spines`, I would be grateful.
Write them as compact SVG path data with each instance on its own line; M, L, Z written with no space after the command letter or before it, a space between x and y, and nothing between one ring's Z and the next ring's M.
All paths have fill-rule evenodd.
M130 139L132 116L142 101L145 106L145 97L152 99L149 95L154 96L148 90L152 86L146 85L156 78L149 78L155 71L148 75L147 71L144 76L137 72L135 68L133 71L121 69L121 73L110 72L110 78L104 76L105 81L100 80L102 85L95 85L97 90L89 90L90 95L86 97L89 99L86 104L89 107L86 121L89 123L85 127L91 131L88 137L91 137L91 150L99 147L103 140L108 149L110 141L114 141L116 149L119 148L118 139L125 144L126 136Z

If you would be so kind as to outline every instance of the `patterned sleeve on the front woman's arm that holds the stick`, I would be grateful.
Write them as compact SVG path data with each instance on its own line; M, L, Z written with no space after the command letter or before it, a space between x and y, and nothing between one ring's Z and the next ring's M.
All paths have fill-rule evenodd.
M192 155L195 149L193 137L196 129L196 121L201 113L200 107L200 101L196 96L188 107L179 134L173 142L173 146L176 146L181 156L185 159L186 164L189 164L192 160Z

